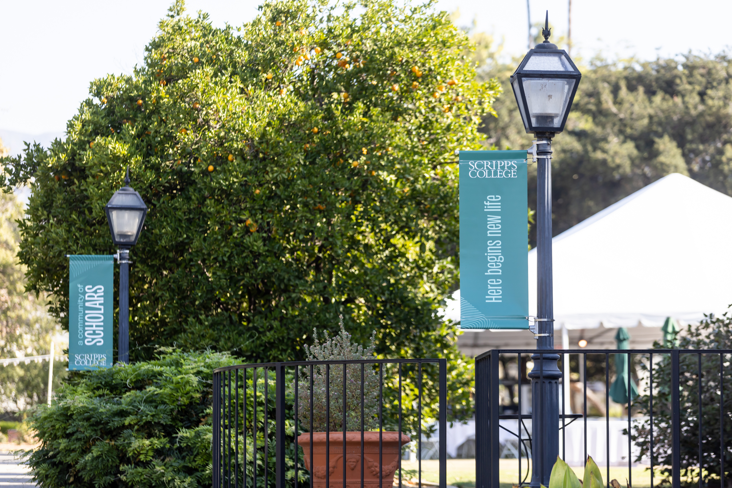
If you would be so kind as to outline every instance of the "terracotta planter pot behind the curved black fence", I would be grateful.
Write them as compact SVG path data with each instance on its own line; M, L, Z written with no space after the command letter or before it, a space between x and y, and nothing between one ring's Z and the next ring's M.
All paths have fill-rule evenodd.
M305 468L313 475L314 488L325 484L325 432L313 433L313 465L310 469L310 433L302 434L297 443L305 451ZM399 468L401 446L411 439L399 432L381 432L381 488L391 488ZM329 488L343 488L343 432L330 432ZM364 488L378 486L378 432L364 432L364 459L361 458L361 432L346 432L346 488L361 487L361 463L364 463Z

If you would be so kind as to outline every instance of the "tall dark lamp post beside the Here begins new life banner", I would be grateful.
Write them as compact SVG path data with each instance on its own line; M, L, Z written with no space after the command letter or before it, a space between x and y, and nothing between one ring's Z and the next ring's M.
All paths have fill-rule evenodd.
M537 145L537 354L531 356L531 487L549 486L551 468L559 454L558 354L554 349L554 305L551 255L551 140L564 130L581 74L569 55L549 42L549 13L542 30L544 42L523 58L511 76L526 132Z

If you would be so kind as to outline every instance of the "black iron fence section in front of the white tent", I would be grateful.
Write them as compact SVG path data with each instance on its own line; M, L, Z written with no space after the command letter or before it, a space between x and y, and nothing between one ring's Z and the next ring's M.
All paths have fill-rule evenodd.
M553 358L559 357L563 375L543 369L551 355L558 355ZM507 482L501 476L507 451L518 465L518 478L510 481L514 486L529 484L534 468L543 472L531 461L534 451L546 448L532 439L539 422L559 427L556 454L570 465L582 465L590 455L602 466L608 487L611 465L617 478L618 466L627 467L627 487L639 469L649 473L651 487L727 487L731 359L732 350L490 350L478 356L477 488ZM527 375L532 368L533 381ZM558 403L556 418L540 418L546 409L532 409L548 402Z

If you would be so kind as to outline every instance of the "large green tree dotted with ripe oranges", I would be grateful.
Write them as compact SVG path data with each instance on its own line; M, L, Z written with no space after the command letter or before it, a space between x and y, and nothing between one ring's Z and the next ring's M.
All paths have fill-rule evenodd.
M456 149L500 90L431 4L270 1L241 28L176 2L133 75L91 83L65 141L4 159L29 182L20 261L67 326L67 254L114 252L129 165L149 206L130 273L133 360L155 346L302 359L314 327L382 356L449 356Z

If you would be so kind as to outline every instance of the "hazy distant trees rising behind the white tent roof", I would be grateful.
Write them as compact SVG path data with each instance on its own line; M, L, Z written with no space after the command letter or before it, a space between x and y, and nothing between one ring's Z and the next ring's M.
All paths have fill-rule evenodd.
M490 61L482 77L495 76L508 89L494 104L498 117L485 117L481 130L499 149L527 148L531 135L508 84L520 59ZM580 65L567 128L553 144L554 234L669 173L732 195L730 61L722 53ZM536 170L529 168L535 187ZM532 208L535 200L530 191Z

